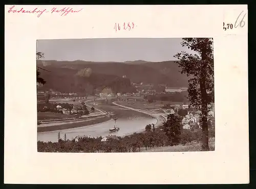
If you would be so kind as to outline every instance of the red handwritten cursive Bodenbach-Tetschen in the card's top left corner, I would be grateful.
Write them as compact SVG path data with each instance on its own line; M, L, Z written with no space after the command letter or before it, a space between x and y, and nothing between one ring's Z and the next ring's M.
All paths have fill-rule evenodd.
M60 16L67 16L70 13L77 13L80 12L82 9L79 10L74 10L73 8L70 7L65 7L62 9L58 9L58 8L52 8L51 10L49 9L38 9L38 8L34 8L32 10L26 10L25 8L21 8L21 9L16 9L15 6L10 7L10 9L8 10L8 13L30 13L30 14L37 14L37 17L40 17L43 13L59 13Z

